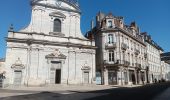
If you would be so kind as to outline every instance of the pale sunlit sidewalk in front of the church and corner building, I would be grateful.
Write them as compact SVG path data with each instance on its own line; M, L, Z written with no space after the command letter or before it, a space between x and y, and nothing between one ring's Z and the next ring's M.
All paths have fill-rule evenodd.
M0 98L1 97L9 97L9 96L18 96L18 95L28 95L28 94L36 94L40 92L55 92L59 94L73 94L76 92L89 92L96 90L107 90L121 87L138 87L140 85L133 86L118 86L118 85L51 85L44 87L14 87L10 86L4 89L0 89Z

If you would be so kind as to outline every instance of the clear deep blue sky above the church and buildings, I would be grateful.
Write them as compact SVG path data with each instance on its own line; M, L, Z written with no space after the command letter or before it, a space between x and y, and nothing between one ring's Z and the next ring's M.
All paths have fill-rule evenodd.
M30 0L1 0L0 58L6 54L8 29L11 24L18 31L27 26L31 17ZM170 51L170 0L79 0L81 30L90 30L91 20L101 11L124 17L126 24L135 21L141 32L148 32L165 52Z

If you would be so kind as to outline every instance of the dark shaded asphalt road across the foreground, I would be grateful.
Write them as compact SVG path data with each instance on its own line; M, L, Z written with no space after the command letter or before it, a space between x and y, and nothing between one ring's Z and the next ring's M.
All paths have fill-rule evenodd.
M28 93L27 95L0 98L0 100L155 100L168 88L170 88L170 83L145 85L134 88L113 88L91 92L88 91L35 92L23 90L22 91L0 90L0 94L4 92ZM159 98L159 100L165 99Z

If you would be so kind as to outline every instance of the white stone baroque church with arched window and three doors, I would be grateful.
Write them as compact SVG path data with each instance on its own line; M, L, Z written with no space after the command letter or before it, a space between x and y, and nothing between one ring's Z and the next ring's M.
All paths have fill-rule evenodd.
M81 33L78 2L32 0L31 7L30 24L8 32L5 84L95 84L96 47Z

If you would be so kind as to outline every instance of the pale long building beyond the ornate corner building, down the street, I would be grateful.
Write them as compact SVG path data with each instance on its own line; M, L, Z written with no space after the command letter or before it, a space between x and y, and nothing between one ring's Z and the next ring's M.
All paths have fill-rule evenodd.
M164 50L146 32L142 33L142 35L147 47L149 82L153 83L165 79L165 62L161 61L160 56Z

